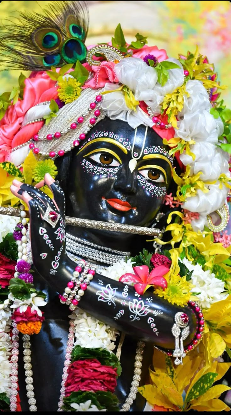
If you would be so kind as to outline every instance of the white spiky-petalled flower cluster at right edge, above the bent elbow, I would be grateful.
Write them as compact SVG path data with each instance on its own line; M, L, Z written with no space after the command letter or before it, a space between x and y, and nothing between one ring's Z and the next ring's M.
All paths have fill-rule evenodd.
M214 273L209 270L203 271L201 265L193 265L186 258L182 261L189 271L193 271L191 279L194 288L192 288L192 292L200 293L197 294L197 302L202 308L210 308L211 304L224 300L229 295L224 291L224 281L216 278Z

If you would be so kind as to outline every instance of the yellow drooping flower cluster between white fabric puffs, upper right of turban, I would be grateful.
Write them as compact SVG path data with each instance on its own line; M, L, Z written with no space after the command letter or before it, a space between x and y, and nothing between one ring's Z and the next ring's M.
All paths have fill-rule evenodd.
M184 107L184 95L189 97L189 93L185 90L185 85L179 86L171 94L166 94L162 103L162 111L167 109L168 121L172 127L177 128L176 116Z

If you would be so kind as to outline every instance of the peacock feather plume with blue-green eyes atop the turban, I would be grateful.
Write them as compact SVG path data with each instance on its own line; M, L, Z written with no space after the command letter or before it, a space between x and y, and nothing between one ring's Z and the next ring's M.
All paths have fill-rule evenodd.
M52 1L41 14L21 12L17 24L0 27L0 66L44 71L84 61L88 22L85 1Z

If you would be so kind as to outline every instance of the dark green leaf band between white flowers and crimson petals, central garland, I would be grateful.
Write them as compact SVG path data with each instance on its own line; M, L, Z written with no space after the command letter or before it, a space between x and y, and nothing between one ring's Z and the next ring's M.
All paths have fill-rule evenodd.
M97 359L102 365L117 368L117 376L120 376L121 366L114 353L108 352L106 349L90 349L86 347L76 346L71 352L72 361L82 359Z

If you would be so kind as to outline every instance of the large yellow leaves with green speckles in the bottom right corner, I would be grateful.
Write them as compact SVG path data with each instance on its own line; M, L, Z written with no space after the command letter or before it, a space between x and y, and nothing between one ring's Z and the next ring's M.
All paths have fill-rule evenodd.
M151 384L141 386L138 391L151 404L176 411L228 411L230 408L221 400L221 393L229 386L212 386L221 379L231 366L230 363L209 364L203 353L194 350L184 358L183 366L174 368L170 357L154 352L153 368L150 369ZM185 394L186 392L186 394ZM184 398L183 398L184 397Z

